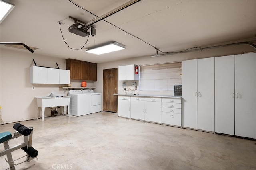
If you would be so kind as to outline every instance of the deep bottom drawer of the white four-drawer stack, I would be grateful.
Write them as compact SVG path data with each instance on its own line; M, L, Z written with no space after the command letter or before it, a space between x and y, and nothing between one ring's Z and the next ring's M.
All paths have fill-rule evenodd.
M162 123L181 126L181 114L162 112Z

